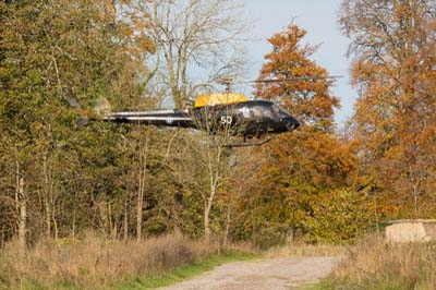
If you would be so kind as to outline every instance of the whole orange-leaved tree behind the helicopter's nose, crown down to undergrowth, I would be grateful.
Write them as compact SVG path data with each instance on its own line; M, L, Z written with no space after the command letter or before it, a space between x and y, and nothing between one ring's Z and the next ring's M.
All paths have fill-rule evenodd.
M243 227L235 230L241 237L263 231L282 235L296 233L298 229L304 232L304 221L317 206L313 201L323 203L332 190L351 186L356 174L351 144L342 144L331 133L334 108L339 106L338 98L329 92L332 81L323 78L328 76L327 71L310 60L316 47L302 46L304 35L305 31L290 25L268 39L272 52L265 57L258 80L314 80L262 83L256 87L256 96L280 104L302 126L259 150L257 158L264 161L254 173L255 190L240 204L239 222ZM251 213L242 208L251 208ZM281 240L277 235L276 242ZM268 245L271 242L267 241Z

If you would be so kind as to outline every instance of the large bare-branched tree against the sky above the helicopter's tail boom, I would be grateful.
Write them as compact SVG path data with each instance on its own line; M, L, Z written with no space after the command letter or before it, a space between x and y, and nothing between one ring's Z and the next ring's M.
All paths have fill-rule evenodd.
M157 46L153 83L166 90L175 107L186 106L197 89L234 77L244 68L242 35L246 26L238 17L241 5L234 1L137 1L136 9L149 16L148 33Z

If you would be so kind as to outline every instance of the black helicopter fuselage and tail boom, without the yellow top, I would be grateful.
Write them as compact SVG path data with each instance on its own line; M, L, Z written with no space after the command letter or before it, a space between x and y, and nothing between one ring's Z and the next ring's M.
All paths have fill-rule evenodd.
M104 119L117 123L193 128L209 133L228 132L244 137L290 132L300 125L289 112L268 100L247 100L182 110L113 112Z

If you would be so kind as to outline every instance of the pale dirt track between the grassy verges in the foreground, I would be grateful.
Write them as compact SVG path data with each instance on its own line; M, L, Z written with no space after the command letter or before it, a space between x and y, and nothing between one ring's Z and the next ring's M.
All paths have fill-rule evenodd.
M327 275L337 261L337 257L288 257L234 262L159 290L298 289Z

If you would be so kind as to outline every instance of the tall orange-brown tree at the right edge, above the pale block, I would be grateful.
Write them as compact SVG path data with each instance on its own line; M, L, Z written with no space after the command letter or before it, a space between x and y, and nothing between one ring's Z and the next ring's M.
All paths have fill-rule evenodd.
M403 216L420 214L419 198L433 200L435 22L434 1L347 0L339 13L360 92L362 172L378 192L395 193Z

